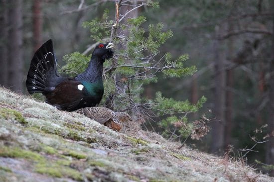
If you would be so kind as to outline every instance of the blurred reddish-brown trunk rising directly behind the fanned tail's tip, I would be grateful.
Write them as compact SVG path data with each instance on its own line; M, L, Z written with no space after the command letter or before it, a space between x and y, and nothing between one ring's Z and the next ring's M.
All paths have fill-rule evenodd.
M42 17L40 0L33 0L33 52L35 52L42 44Z

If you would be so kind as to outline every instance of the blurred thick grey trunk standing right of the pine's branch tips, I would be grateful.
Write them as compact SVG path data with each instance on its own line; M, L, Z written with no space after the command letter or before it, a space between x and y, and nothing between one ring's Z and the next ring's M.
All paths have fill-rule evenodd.
M215 27L216 37L219 37L221 30L219 27ZM214 97L214 110L215 116L219 121L212 123L212 143L211 152L221 153L224 149L224 136L225 136L225 116L224 116L224 106L225 106L225 72L224 72L224 55L221 50L221 41L215 40L214 42L214 52L215 52L215 97Z

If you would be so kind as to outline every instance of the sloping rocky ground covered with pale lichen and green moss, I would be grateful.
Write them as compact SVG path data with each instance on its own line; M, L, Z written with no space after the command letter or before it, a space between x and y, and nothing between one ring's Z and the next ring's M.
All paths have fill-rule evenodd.
M115 132L0 88L0 182L271 182L138 128Z

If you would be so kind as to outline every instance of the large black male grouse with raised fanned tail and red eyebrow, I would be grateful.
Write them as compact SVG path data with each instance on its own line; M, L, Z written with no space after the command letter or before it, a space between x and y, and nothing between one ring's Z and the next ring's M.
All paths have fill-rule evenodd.
M45 42L34 54L26 79L29 93L41 92L46 102L60 110L73 111L96 106L102 99L103 63L113 56L113 43L98 44L88 68L74 78L60 76L52 40Z

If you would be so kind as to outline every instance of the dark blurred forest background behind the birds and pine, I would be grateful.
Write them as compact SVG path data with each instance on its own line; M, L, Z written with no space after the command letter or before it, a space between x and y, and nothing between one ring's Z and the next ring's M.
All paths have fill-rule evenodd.
M212 130L205 138L189 139L187 144L219 155L233 151L236 156L243 149L238 152L248 152L244 157L249 164L274 165L274 1L158 2L159 8L143 6L132 16L146 17L141 25L145 30L158 22L164 30L172 30L173 37L160 53L170 52L174 58L189 54L185 65L195 65L198 71L181 79L159 76L157 83L145 86L143 96L152 99L161 91L167 98L196 103L204 95L207 102L188 120L199 120L212 109L210 117L217 121L210 123ZM59 66L65 64L66 54L88 52L95 41L82 24L103 18L105 9L114 20L115 0L0 0L0 85L27 94L24 83L30 60L48 39L53 39ZM176 139L176 130L163 132L167 128L155 124L160 118L148 122L142 123L144 128ZM262 169L271 173L270 168Z

